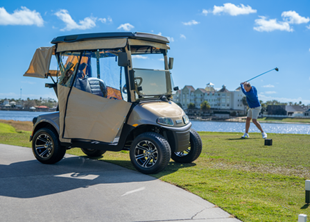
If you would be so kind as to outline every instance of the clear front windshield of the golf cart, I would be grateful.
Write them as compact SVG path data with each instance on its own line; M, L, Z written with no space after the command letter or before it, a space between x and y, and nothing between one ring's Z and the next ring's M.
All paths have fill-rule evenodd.
M164 50L150 46L131 46L131 53L135 91L139 99L174 94L171 72L165 70Z

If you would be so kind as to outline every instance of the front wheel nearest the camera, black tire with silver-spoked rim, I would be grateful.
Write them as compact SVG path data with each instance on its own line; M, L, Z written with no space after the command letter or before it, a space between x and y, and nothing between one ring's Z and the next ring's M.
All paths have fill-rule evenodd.
M132 165L141 173L162 171L171 158L171 148L166 139L158 133L142 133L130 146Z

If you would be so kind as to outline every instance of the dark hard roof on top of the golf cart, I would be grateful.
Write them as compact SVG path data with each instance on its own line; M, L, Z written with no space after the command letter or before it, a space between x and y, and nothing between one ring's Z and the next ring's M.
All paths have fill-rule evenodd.
M80 42L89 40L102 40L102 39L116 39L116 38L128 38L136 40L145 40L150 42L169 43L169 40L162 35L155 35L150 33L130 33L130 32L119 32L119 33L88 33L78 35L64 35L53 38L52 44L63 43L63 42Z

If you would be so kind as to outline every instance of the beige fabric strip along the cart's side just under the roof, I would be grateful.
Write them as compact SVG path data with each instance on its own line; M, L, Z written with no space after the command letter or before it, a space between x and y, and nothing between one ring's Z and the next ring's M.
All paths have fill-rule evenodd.
M76 50L92 50L92 49L115 49L125 47L127 39L114 40L91 40L81 42L61 42L57 45L57 52L60 51L76 51Z

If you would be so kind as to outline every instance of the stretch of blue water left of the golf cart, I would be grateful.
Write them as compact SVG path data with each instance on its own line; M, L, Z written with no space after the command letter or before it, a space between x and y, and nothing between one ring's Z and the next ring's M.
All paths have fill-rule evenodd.
M8 111L0 110L0 119L12 119L19 121L33 121L34 117L37 117L40 114L46 114L49 112L30 112L30 111Z

